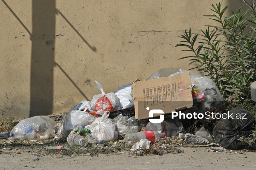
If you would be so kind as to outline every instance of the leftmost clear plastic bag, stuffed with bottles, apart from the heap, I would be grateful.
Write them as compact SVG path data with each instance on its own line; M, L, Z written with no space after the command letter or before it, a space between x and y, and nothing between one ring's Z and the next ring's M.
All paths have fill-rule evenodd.
M19 139L49 139L55 135L57 124L48 116L23 119L11 130Z

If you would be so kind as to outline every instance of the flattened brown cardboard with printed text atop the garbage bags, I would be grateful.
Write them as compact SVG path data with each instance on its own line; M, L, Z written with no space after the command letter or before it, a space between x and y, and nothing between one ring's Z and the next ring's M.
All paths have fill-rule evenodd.
M189 71L172 77L135 81L131 88L137 120L148 119L148 112L152 109L169 114L193 106Z

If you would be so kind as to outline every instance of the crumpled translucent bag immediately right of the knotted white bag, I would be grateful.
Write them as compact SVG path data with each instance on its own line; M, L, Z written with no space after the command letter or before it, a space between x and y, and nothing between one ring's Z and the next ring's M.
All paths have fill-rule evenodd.
M135 116L130 117L122 116L119 114L113 119L116 122L116 127L119 135L125 135L127 133L136 133L140 131L142 126L139 126L139 122L135 119Z

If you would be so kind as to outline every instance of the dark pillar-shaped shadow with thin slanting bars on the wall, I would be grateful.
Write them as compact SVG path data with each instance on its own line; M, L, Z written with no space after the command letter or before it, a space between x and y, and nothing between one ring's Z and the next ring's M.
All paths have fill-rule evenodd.
M73 83L78 91L89 100L69 75L54 60L55 48L55 23L56 14L73 28L79 37L96 52L67 18L55 8L56 0L33 0L32 1L32 32L23 24L20 18L2 0L5 6L16 17L20 24L26 29L32 41L31 48L31 71L30 71L30 111L29 117L37 115L49 115L52 113L53 105L53 68L58 67L63 74Z

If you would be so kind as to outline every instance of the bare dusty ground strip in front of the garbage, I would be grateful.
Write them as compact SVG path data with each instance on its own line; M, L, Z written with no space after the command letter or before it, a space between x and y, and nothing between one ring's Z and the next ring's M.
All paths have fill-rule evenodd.
M0 149L2 170L65 170L65 169L105 169L105 170L198 170L241 168L254 169L256 153L252 151L210 152L207 147L180 147L183 153L152 156L134 156L129 151L115 154L85 155L46 155L38 157L36 153L19 150ZM59 150L61 152L61 150Z

